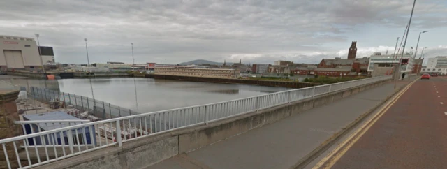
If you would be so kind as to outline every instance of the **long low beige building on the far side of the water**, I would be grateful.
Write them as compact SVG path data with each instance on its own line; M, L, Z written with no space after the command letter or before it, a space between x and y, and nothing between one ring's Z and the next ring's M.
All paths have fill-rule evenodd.
M193 68L188 66L182 67L165 67L156 66L154 68L155 75L179 75L204 78L238 78L240 71L234 69L217 69L217 68Z

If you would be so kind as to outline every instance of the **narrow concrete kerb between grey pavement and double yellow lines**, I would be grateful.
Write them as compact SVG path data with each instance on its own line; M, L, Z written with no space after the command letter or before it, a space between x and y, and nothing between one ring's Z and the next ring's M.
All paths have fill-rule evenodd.
M388 81L388 80L386 80ZM378 105L374 106L374 108L368 110L367 112L365 112L364 114L360 115L359 117L356 118L356 120L354 120L353 122L351 122L350 124L348 124L348 126L346 126L345 128L342 129L342 131L339 131L337 133L335 133L334 135L332 135L328 140L325 140L320 146L318 146L316 149L314 149L312 152L310 152L309 154L307 154L305 157L303 157L302 159L300 159L300 161L298 161L298 163L295 163L295 165L291 166L291 168L295 168L295 169L300 169L300 168L305 168L307 166L307 164L309 164L310 162L312 162L314 159L316 159L320 154L322 154L326 149L328 149L330 146L332 146L335 142L337 142L340 138L342 138L344 135L346 135L346 133L349 133L349 131L352 131L353 128L355 128L356 126L358 126L358 124L360 124L360 122L362 122L366 117L368 117L372 112L374 112L375 110L377 110L378 108L380 108L383 104L385 104L386 102L388 102L388 100L390 100L390 98L393 98L393 96L395 96L395 94L399 93L400 91L402 91L402 89L404 89L404 87L408 86L409 84L403 85L402 87L400 87L397 91L395 91L393 94L391 94L390 96L386 97L383 101L381 101L381 103L379 103Z

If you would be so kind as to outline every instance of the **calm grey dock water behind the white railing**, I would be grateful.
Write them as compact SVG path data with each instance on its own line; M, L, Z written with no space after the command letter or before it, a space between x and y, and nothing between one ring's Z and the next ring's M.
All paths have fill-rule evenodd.
M20 84L23 87L46 87L70 94L92 97L89 79L38 80L8 75L0 75L0 79L13 84ZM153 112L229 101L287 89L284 87L259 87L244 84L185 82L149 78L96 78L91 79L91 86L95 99L130 108L137 112Z

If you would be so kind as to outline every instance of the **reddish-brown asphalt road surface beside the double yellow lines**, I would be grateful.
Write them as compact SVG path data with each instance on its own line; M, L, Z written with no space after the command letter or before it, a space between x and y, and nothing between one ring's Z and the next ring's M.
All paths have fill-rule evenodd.
M447 78L418 80L332 168L447 168Z

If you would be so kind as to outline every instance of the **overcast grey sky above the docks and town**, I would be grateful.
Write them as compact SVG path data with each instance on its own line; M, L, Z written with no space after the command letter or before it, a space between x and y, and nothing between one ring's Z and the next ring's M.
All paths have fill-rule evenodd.
M54 47L56 61L178 64L193 59L272 64L285 59L318 63L394 52L409 21L412 0L112 1L3 0L0 34L34 37ZM447 1L418 0L407 49L447 55ZM420 54L420 50L418 52Z

